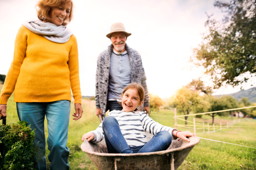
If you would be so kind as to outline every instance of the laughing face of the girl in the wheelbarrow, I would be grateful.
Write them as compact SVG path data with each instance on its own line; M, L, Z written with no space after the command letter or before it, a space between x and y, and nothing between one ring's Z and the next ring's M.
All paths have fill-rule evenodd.
M141 106L143 101L140 101L140 97L135 88L129 88L122 94L122 111L130 112L134 111L138 106Z

